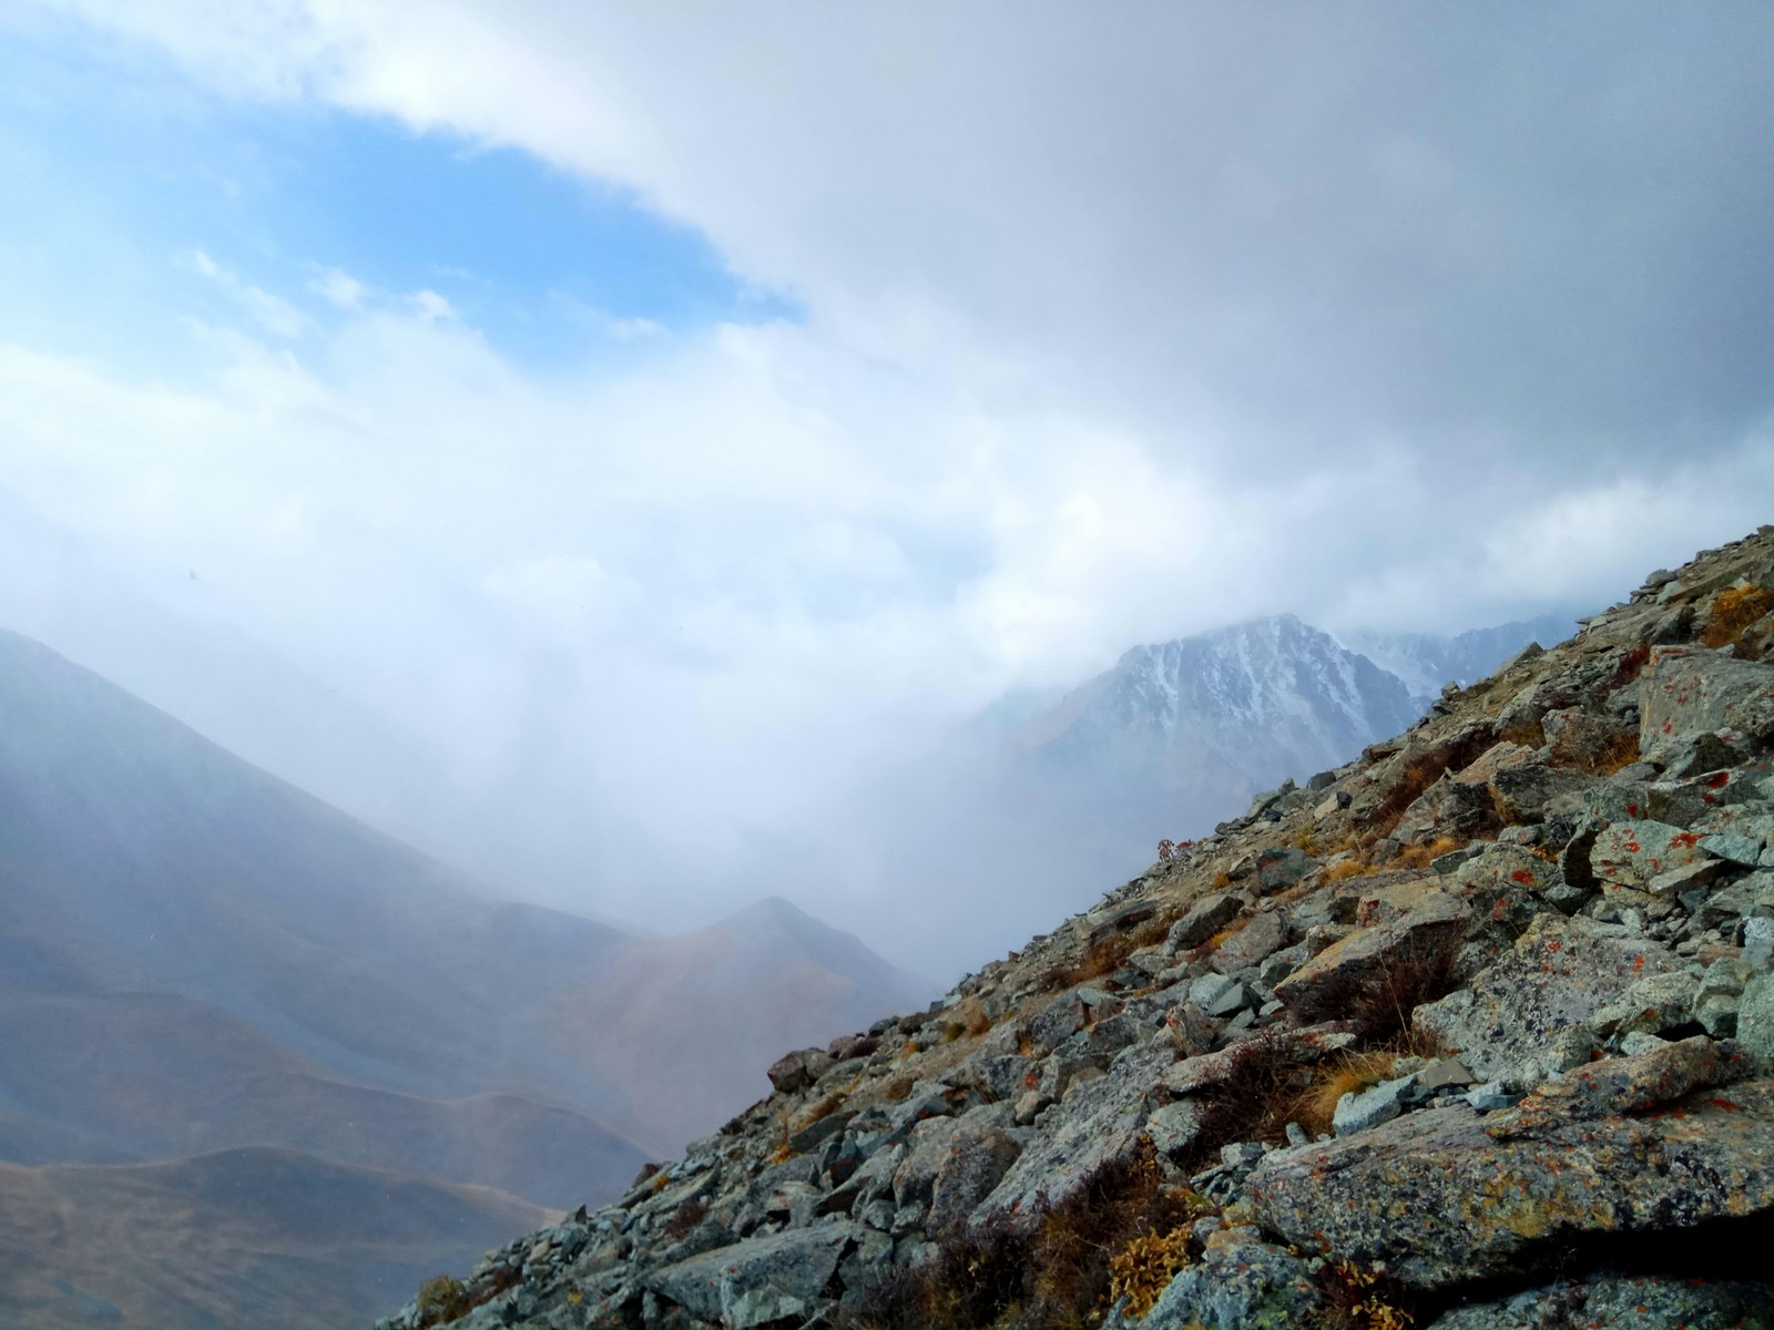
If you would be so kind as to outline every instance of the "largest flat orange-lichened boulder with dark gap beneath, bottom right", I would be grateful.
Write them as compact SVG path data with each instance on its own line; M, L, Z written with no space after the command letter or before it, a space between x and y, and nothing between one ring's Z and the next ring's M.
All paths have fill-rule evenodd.
M1258 1222L1284 1241L1446 1287L1533 1268L1586 1234L1774 1208L1774 1084L1510 1140L1488 1137L1471 1108L1432 1108L1346 1140L1272 1151L1245 1192Z

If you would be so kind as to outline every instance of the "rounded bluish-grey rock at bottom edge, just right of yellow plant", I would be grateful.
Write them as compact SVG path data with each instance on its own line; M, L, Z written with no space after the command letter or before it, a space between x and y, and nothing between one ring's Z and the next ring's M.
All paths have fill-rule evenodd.
M1316 1305L1306 1261L1254 1229L1219 1229L1201 1261L1178 1273L1144 1318L1116 1307L1103 1330L1291 1330Z

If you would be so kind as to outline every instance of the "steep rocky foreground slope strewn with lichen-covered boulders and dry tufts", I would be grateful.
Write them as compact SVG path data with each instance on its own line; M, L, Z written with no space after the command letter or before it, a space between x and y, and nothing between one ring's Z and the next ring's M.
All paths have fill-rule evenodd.
M383 1321L1774 1325L1774 527Z

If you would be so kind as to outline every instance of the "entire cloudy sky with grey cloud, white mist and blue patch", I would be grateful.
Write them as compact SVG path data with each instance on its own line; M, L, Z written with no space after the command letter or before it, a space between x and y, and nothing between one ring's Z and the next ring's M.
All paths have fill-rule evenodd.
M843 922L788 862L1008 688L1774 516L1770 66L1749 0L0 0L0 614L507 890Z

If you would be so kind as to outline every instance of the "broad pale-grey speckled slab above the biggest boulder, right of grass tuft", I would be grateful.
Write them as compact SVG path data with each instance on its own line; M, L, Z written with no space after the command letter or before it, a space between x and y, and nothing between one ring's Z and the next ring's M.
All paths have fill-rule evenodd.
M1469 988L1417 1007L1412 1023L1490 1080L1538 1064L1561 1030L1582 1025L1636 981L1676 968L1680 958L1668 947L1618 926L1540 915Z

